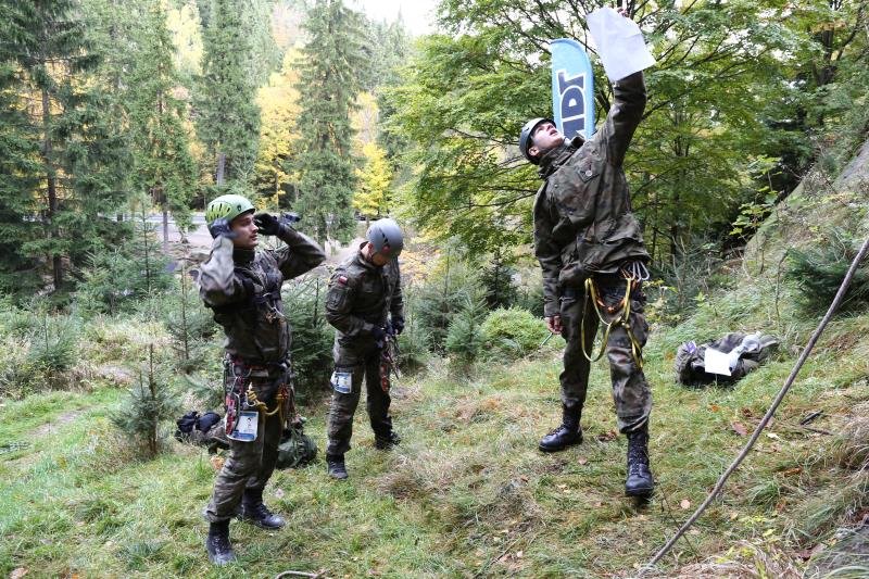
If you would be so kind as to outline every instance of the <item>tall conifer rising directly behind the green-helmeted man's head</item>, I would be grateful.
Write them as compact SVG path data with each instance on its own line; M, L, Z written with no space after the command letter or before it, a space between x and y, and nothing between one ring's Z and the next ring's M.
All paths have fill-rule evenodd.
M218 186L249 182L259 147L260 108L248 70L251 42L243 26L244 7L241 0L214 0L202 39L197 134L214 163Z

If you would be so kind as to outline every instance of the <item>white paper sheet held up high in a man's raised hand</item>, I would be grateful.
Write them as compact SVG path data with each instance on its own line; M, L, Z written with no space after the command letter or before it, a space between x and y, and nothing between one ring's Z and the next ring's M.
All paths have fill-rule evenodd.
M643 33L632 20L612 8L599 8L585 20L609 80L625 78L655 64Z

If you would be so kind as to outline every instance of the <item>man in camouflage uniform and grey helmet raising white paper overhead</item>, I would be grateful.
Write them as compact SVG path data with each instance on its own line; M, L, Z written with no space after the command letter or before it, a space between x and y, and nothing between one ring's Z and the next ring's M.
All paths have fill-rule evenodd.
M522 154L540 166L545 181L533 209L544 316L550 331L567 342L562 425L543 437L540 450L561 451L582 441L580 416L600 314L612 324L605 351L618 428L628 436L626 493L646 496L654 487L647 451L652 394L641 363L648 332L642 292L648 253L622 168L646 102L643 74L618 80L613 92L606 122L588 141L565 139L549 118L529 121L520 134Z

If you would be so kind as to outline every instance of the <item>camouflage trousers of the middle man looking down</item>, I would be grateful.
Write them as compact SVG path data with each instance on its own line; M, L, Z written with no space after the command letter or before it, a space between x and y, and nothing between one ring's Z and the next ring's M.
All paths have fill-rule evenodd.
M366 341L367 342L367 341ZM353 436L353 415L362 395L362 382L365 381L366 406L371 429L376 437L386 438L392 432L392 416L389 405L392 399L380 386L380 349L370 343L343 345L336 341L332 350L335 372L351 373L352 389L350 393L341 393L332 388L332 400L329 405L329 442L327 454L344 454L350 450L350 438Z

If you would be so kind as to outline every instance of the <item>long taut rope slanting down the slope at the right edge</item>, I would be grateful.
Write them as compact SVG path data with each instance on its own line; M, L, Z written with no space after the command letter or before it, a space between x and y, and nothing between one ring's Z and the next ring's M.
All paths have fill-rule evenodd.
M745 443L745 446L742 449L742 452L740 452L736 458L730 464L729 467L727 467L727 470L725 470L725 473L721 475L721 478L718 479L718 482L716 482L715 488L711 490L709 495L706 496L706 500L703 501L703 504L700 505L697 509L694 511L694 514L689 517L689 519L682 525L682 527L678 531L676 531L676 534L673 534L672 538L669 541L667 541L667 544L660 547L660 550L657 553L655 553L655 556L652 557L652 559L648 563L646 563L643 567L640 568L638 577L642 577L646 571L651 570L662 558L664 558L664 555L669 553L669 551L676 544L676 541L678 541L679 538L682 537L685 533L685 531L688 531L688 529L691 528L691 526L700 518L703 512L706 511L706 508L711 504L715 498L718 496L718 494L721 492L721 489L723 489L725 483L730 478L730 475L733 474L733 471L740 466L742 461L744 461L745 457L748 455L748 451L751 451L752 446L754 446L755 442L757 442L757 439L760 437L760 432L763 432L764 429L767 427L769 420L772 418L772 415L776 414L776 410L779 407L779 404L781 404L782 399L784 399L784 395L791 389L791 386L793 386L797 374L799 374L799 370L803 367L803 364L808 358L809 354L811 353L811 350L815 348L815 344L821 337L821 333L823 333L824 328L830 323L830 318L833 317L833 314L842 304L842 300L845 298L845 292L847 291L848 286L851 286L851 281L854 279L854 274L857 270L857 267L859 266L862 259L866 256L867 252L869 252L869 239L864 241L860 251L857 252L857 256L854 257L854 261L851 263L851 267L848 267L848 272L845 275L845 279L842 280L842 285L839 287L839 291L836 292L833 302L830 304L829 310L827 310L827 314L823 316L823 319L821 319L820 324L818 324L818 327L815 329L815 332L811 335L811 338L809 338L808 342L806 343L806 348L803 350L803 353L799 354L799 360L796 361L796 365L791 370L791 375L788 376L788 379L784 381L784 386L781 387L781 390L779 390L778 395L776 395L776 399L772 401L772 405L770 405L769 410L764 415L764 418L760 420L760 423L758 423L757 428L752 433L752 438L750 438L748 442Z

